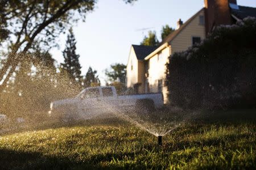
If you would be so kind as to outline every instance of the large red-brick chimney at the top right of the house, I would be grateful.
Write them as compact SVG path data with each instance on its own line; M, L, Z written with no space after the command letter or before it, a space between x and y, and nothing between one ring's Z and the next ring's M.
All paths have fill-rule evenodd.
M237 4L236 0L204 0L205 32L208 34L218 25L232 24L229 3Z

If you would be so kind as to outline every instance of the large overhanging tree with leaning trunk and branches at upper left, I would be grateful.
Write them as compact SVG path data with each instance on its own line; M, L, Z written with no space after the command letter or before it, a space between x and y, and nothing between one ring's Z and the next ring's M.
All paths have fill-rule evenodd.
M134 0L124 1L131 3ZM56 37L79 19L85 20L85 15L93 10L96 2L96 0L2 0L0 32L5 32L6 36L1 39L5 39L7 44L10 44L10 53L0 71L0 81L2 80L0 91L6 87L16 66L22 67L23 61L26 61L24 53L35 45L39 45L42 49L57 45Z

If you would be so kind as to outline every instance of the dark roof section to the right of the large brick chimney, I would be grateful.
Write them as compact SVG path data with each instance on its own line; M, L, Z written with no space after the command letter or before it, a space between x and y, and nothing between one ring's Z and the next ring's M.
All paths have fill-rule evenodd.
M231 14L235 15L238 19L246 18L247 16L256 17L256 8L247 6L238 6L238 8L230 7Z

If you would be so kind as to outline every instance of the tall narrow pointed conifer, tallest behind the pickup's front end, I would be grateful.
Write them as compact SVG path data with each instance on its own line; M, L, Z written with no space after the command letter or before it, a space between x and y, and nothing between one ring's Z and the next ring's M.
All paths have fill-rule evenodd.
M72 29L69 29L66 47L63 51L64 63L61 63L63 71L67 71L71 82L81 82L81 66L79 54L76 54L76 39Z

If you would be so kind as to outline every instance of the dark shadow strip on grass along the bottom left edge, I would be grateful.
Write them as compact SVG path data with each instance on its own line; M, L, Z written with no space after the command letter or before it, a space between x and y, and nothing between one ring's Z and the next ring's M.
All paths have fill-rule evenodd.
M134 153L98 154L89 159L77 160L76 156L47 156L39 152L23 152L0 149L0 169L116 169L117 165L104 165L102 162L111 162L113 158L123 159L123 155L131 156Z

